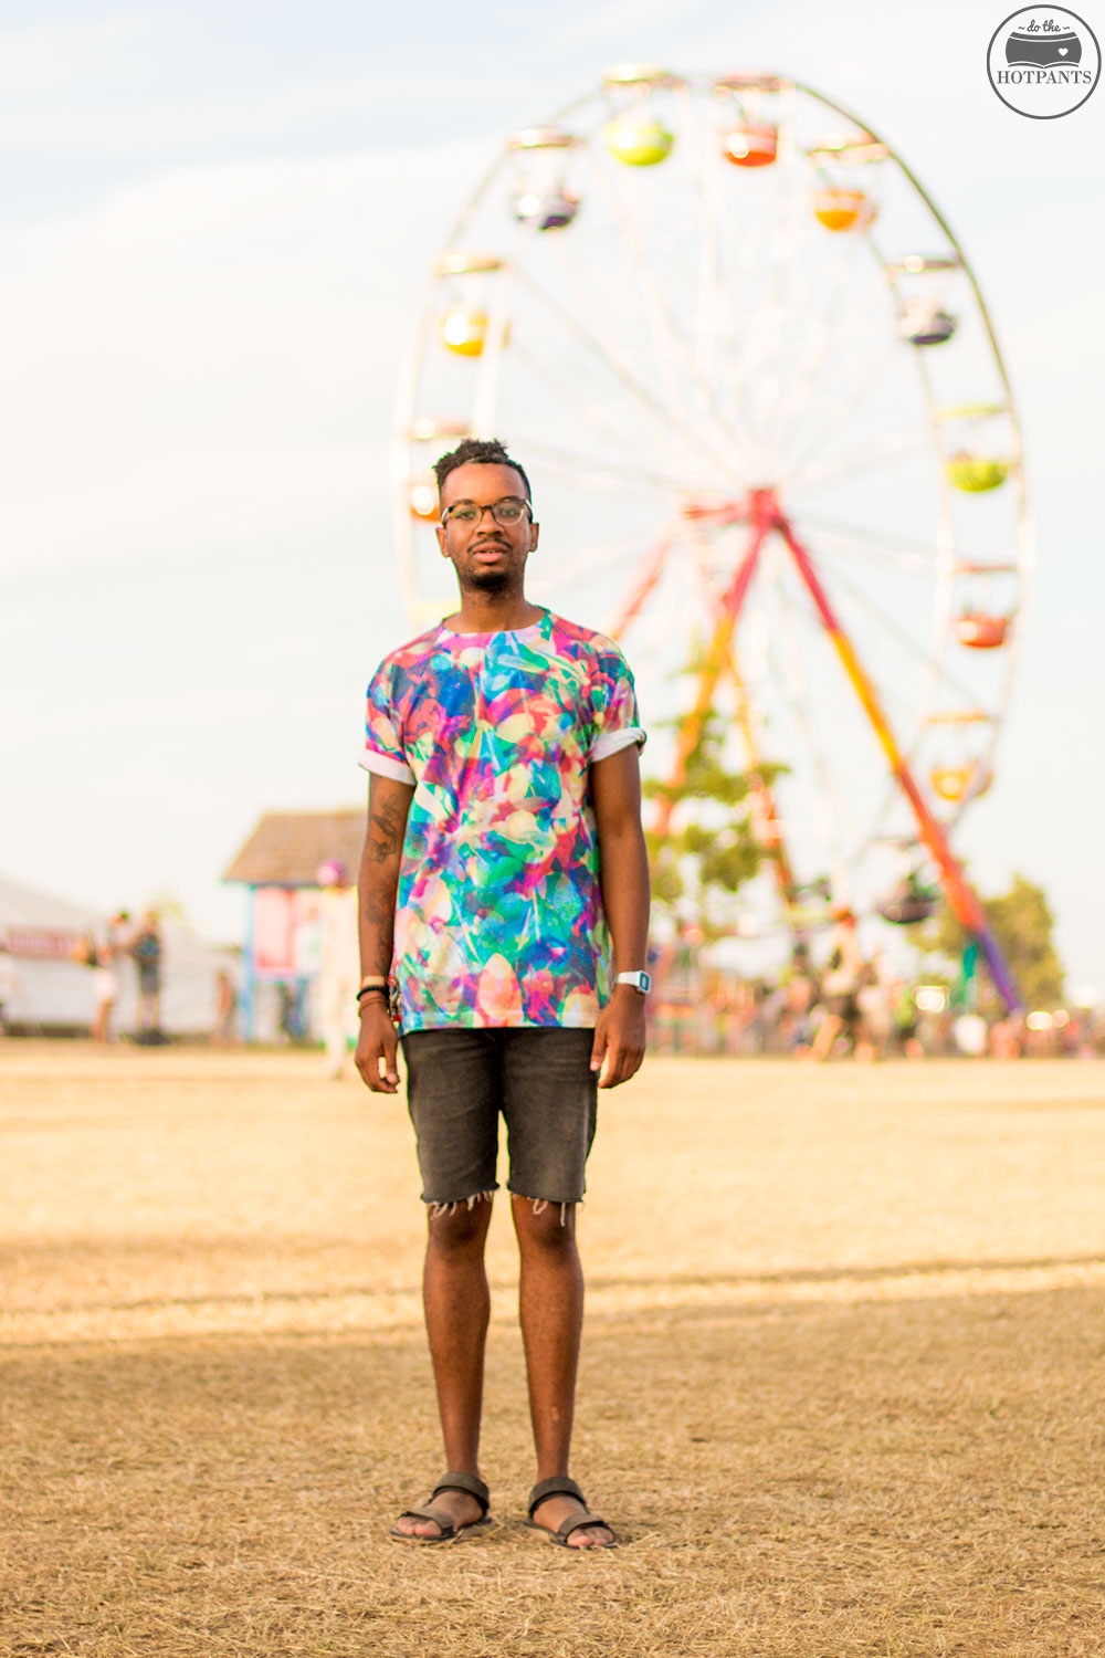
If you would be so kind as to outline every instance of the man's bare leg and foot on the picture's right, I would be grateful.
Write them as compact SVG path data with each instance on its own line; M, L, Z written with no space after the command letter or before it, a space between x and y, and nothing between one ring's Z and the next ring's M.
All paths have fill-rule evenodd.
M519 1315L540 1482L568 1472L583 1333L583 1272L575 1247L573 1204L563 1210L560 1204L548 1204L535 1214L530 1199L514 1197L510 1212L522 1257ZM537 1510L537 1522L555 1532L562 1520L580 1512L575 1497L548 1497ZM586 1527L568 1539L575 1549L610 1542L606 1527Z

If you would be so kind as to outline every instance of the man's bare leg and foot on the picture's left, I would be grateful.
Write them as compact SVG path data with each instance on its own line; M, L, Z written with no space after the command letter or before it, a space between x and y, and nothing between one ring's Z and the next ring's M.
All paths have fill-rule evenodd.
M484 1406L484 1348L490 1318L490 1292L484 1245L490 1225L490 1200L452 1214L431 1214L422 1270L426 1333L437 1386L437 1414L446 1442L446 1467L479 1476L479 1431ZM480 1505L464 1491L442 1491L434 1507L452 1515L454 1525L479 1520ZM432 1520L401 1519L396 1530L411 1537L436 1537Z

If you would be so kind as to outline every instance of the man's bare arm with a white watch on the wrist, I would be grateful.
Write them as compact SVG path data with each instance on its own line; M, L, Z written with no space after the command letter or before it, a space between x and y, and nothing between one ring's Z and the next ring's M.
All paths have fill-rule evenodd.
M598 879L615 947L615 973L648 963L648 851L641 827L641 761L636 743L591 766L591 804L598 829ZM595 1026L591 1069L600 1088L616 1088L644 1058L644 996L615 985Z

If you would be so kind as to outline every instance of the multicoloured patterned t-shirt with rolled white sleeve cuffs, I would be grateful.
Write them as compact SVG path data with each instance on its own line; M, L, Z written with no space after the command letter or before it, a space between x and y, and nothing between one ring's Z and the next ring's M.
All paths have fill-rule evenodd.
M510 633L436 627L384 658L361 764L414 784L404 1031L595 1025L610 985L588 766L643 741L618 647L550 610Z

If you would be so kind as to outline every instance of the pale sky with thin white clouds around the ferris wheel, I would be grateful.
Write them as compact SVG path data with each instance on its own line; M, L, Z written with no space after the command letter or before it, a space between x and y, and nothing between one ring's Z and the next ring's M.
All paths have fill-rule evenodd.
M258 814L363 799L364 683L409 633L394 385L451 219L507 133L611 63L769 68L883 133L982 282L1037 567L958 849L984 890L1040 882L1070 985L1105 993L1105 93L1007 109L1004 15L0 3L0 870L240 935L220 872Z

